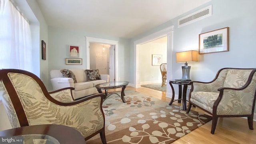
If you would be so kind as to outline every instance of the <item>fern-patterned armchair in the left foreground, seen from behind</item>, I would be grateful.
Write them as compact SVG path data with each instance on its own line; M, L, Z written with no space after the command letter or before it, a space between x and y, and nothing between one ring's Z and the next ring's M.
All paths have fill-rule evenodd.
M16 69L0 70L0 98L12 128L38 124L61 124L78 130L85 140L100 133L105 138L102 110L104 94L74 100L71 90L47 92L36 75Z

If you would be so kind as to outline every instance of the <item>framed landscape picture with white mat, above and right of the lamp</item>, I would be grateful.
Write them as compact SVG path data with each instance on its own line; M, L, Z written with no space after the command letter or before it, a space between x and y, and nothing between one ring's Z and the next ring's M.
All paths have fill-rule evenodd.
M228 51L228 27L199 34L199 54Z

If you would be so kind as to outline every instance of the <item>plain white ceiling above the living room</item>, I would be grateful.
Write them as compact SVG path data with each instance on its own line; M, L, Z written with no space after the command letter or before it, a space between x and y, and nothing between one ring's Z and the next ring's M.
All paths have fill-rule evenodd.
M210 0L36 0L48 26L133 38Z

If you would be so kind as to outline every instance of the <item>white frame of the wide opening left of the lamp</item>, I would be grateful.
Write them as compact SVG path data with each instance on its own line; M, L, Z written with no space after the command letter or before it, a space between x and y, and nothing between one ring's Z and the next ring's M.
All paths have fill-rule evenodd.
M167 36L167 80L172 79L172 35L174 26L170 26L144 38L134 41L134 86L140 87L140 48L142 44ZM170 88L166 87L166 96L170 95Z

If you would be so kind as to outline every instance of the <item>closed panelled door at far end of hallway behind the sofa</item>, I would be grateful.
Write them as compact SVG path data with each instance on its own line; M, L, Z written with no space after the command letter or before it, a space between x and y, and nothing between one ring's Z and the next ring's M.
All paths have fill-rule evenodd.
M96 69L100 74L107 74L107 54L96 53Z

